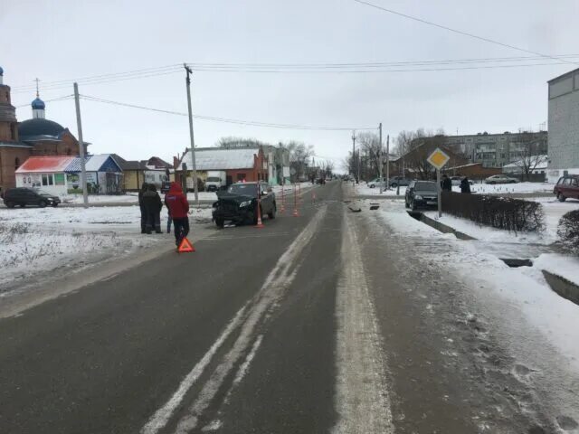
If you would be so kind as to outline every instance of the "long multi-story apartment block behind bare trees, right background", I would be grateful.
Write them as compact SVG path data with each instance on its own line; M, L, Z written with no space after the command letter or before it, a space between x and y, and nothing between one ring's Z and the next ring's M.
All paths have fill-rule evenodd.
M489 134L487 132L446 136L444 145L455 153L466 156L471 163L481 163L483 167L502 167L525 156L547 154L547 132L520 132Z

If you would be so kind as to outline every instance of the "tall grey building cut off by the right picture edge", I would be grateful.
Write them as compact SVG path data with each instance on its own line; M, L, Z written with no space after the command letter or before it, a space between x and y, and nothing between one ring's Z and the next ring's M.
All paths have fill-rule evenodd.
M549 165L547 177L579 174L579 69L548 81Z

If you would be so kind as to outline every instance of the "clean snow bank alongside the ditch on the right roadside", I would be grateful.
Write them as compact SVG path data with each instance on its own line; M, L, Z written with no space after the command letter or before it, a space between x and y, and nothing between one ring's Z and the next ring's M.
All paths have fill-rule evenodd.
M496 300L498 297L502 300L498 305L505 308L497 315L506 324L511 320L509 309L516 308L529 325L555 344L568 363L579 370L579 306L559 297L540 273L540 269L552 269L556 274L576 282L579 280L578 260L543 255L534 268L510 269L496 256L481 252L476 241L459 241L449 234L442 234L402 212L402 207L398 212L380 212L378 215L397 234L451 241L451 250L444 250L443 253L432 251L431 247L414 254L436 257L441 267L457 273L467 288L471 288L481 299L490 297ZM504 232L501 231L501 234Z

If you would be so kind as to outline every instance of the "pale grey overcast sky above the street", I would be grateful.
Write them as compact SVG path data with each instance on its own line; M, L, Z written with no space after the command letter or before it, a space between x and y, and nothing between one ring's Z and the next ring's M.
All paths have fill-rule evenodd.
M576 54L576 0L368 0L526 50ZM468 5L467 5L468 4ZM386 14L354 0L0 0L0 66L13 88L41 81L41 98L72 93L43 83L177 63L348 63L526 56L523 52ZM579 62L579 57L574 59ZM574 64L463 71L248 73L195 71L195 114L269 123L403 129L447 134L538 128L546 80ZM468 66L468 65L460 65ZM439 68L444 66L439 66ZM446 66L448 67L448 66ZM45 86L48 86L47 84ZM81 94L186 111L185 74L82 84ZM33 90L13 90L18 120ZM72 100L46 103L46 117L77 134ZM81 101L90 152L128 159L171 157L189 145L187 118ZM299 140L340 161L351 132L285 130L195 120L197 146L223 136Z

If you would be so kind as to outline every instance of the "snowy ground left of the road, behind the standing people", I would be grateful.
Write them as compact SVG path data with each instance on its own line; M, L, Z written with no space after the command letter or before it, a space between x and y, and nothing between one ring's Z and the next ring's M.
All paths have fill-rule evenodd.
M208 223L211 209L193 210L192 224ZM161 212L166 229L166 208ZM55 269L76 269L122 257L173 235L140 233L138 206L0 209L0 297L3 287ZM64 271L66 272L66 271Z

